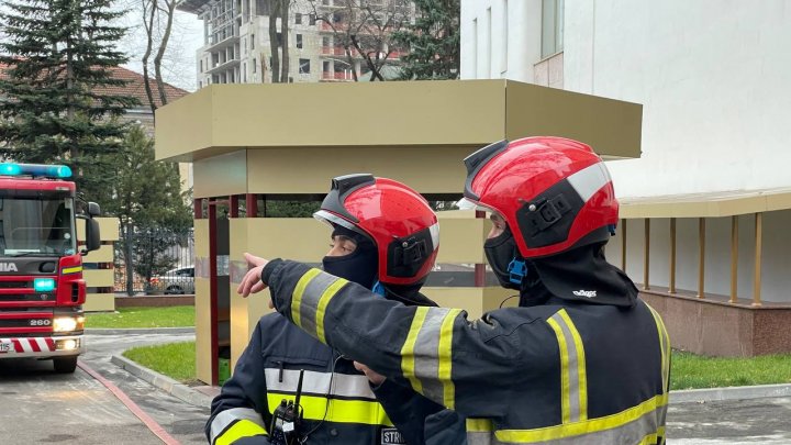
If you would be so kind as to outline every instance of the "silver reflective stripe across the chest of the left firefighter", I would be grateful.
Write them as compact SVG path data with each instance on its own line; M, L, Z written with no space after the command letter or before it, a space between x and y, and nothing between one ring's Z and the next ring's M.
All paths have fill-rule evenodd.
M299 382L300 371L293 369L282 370L282 381L280 381L280 369L266 368L264 375L266 377L267 390L280 392L296 392ZM330 389L328 372L304 371L302 379L302 392L312 394L339 396L355 399L376 400L376 396L368 385L368 378L363 375L335 374L332 377L332 389Z

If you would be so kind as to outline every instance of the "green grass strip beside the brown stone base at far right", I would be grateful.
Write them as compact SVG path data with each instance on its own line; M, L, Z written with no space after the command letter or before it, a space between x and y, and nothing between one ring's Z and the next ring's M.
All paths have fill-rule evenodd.
M703 357L673 351L672 389L791 383L791 355L754 358Z

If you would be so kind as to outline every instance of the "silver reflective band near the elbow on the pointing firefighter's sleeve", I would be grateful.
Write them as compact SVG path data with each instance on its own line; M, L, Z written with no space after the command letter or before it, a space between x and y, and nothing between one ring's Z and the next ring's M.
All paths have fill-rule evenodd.
M443 320L450 310L431 308L414 346L414 374L421 380L423 394L431 400L445 400L445 387L439 376L439 332Z

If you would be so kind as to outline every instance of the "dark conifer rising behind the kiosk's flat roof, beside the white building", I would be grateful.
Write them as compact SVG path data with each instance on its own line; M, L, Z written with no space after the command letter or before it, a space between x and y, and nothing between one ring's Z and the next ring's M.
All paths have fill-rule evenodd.
M414 0L417 16L393 40L409 49L402 79L456 79L459 75L460 0Z

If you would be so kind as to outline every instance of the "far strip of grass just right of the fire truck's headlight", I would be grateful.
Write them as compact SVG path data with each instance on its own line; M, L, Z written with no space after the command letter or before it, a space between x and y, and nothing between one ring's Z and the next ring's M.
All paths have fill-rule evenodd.
M183 327L194 326L194 307L119 308L118 313L89 313L86 327Z

